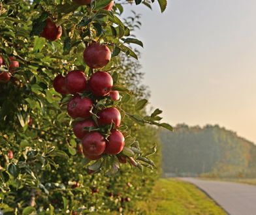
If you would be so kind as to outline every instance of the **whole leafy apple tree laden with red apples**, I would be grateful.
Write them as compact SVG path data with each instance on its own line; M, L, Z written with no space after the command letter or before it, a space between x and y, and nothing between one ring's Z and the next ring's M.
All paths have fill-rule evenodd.
M131 46L143 44L131 36L135 23L122 21L126 2L113 3L0 1L5 212L121 212L143 196L138 190L148 192L157 142L150 125L172 127L159 122L161 110L146 112Z

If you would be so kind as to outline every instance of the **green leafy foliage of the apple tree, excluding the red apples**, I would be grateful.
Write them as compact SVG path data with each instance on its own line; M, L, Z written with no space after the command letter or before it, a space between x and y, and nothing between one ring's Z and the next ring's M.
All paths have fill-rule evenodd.
M138 53L129 45L142 46L142 42L129 36L135 23L121 21L121 3L116 3L113 12L103 10L109 2L78 7L63 0L0 1L0 53L5 61L1 71L10 70L11 56L20 63L11 80L0 84L0 208L5 214L128 211L136 199L150 192L157 178L152 170L159 166L157 134L146 124L172 127L159 122L159 109L146 114L148 93L138 85L140 65L130 58L137 59ZM165 1L159 3L164 10ZM56 42L40 36L48 17L63 29ZM108 102L120 108L120 129L128 151L122 154L127 164L120 164L116 156L90 162L77 154L80 140L72 133L72 120L66 113L71 96L56 93L52 87L57 74L72 69L84 70L87 76L93 73L82 57L92 41L112 51L112 60L102 70L112 75L121 100L95 101L97 108ZM144 167L148 169L141 173Z

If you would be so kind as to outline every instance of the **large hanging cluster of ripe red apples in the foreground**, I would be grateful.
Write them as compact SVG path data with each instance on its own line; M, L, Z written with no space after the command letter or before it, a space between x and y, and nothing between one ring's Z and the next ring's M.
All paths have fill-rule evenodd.
M103 68L110 59L111 51L104 44L93 42L84 50L84 62L92 69ZM73 94L67 104L67 113L76 119L72 124L73 132L82 140L82 151L86 158L97 160L102 154L119 154L123 150L125 138L118 130L120 111L114 106L100 110L95 108L95 102L103 98L109 97L113 101L120 99L119 92L112 91L113 79L108 72L98 70L88 79L84 71L72 70L65 77L60 74L56 76L53 86L58 93ZM92 115L97 115L95 120ZM107 138L95 131L106 127L112 128Z

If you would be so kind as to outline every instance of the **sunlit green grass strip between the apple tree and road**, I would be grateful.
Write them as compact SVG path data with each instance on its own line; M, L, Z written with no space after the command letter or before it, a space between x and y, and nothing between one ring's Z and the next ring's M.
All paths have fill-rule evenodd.
M178 179L160 179L148 201L137 205L143 214L221 215L226 214L196 186Z

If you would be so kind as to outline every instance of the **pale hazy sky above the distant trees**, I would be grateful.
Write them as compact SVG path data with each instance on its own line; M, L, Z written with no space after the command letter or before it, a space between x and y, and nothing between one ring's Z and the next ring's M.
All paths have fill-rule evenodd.
M127 7L129 10L130 7ZM142 14L142 72L172 125L219 124L256 143L256 1L169 0Z

